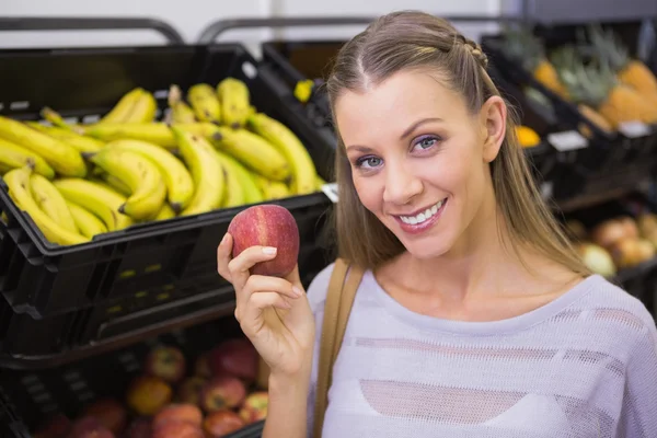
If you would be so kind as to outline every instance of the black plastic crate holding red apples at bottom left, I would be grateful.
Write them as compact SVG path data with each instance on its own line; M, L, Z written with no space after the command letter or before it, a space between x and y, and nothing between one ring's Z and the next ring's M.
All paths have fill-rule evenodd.
M129 382L142 371L145 358L155 345L178 347L187 359L187 376L196 358L221 341L241 337L232 316L172 331L129 347L42 371L2 370L0 373L0 436L30 438L57 414L79 417L97 399L125 402ZM230 438L255 438L264 422L231 434Z

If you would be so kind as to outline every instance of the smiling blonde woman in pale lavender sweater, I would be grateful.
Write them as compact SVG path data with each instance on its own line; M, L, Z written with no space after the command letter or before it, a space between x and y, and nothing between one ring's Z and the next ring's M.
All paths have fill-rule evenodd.
M656 437L655 322L568 245L486 64L416 12L379 19L337 56L337 241L367 270L323 437ZM231 261L231 246L218 269L270 367L264 436L306 437L333 265L303 293L297 272L250 276L275 249Z

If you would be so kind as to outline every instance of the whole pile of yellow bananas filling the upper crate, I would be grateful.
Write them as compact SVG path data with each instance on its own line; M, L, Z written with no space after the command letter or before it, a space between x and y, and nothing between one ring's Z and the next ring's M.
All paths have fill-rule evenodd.
M93 124L0 116L0 174L15 205L60 245L131 224L321 191L308 150L227 78L177 85L157 119L147 90L126 93Z

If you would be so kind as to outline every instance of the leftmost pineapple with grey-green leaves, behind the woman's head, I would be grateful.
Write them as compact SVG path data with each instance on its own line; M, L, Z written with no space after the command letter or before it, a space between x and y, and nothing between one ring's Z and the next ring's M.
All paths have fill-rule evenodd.
M554 66L545 56L542 43L531 32L523 28L511 30L507 27L502 49L509 59L519 62L545 88L562 99L569 99Z

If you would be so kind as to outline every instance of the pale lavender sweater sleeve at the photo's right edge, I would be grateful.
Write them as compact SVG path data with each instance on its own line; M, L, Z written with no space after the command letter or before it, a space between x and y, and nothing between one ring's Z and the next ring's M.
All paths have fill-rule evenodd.
M619 424L627 438L657 437L657 330L649 320L627 362Z

